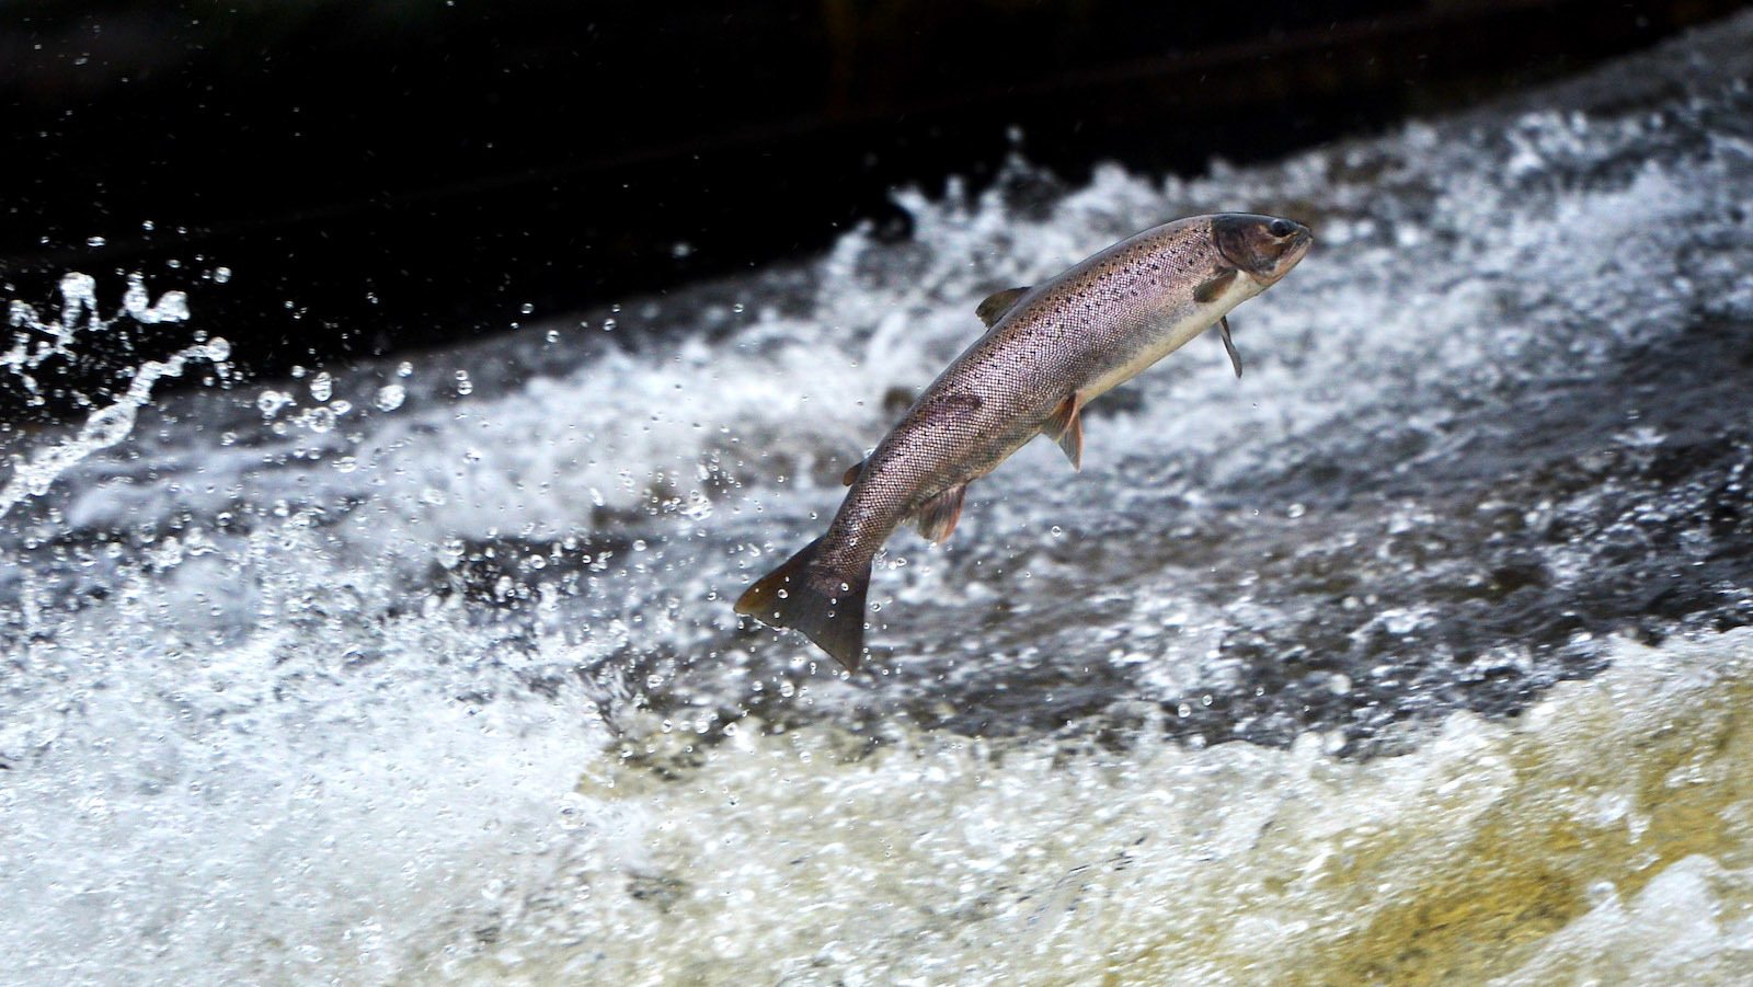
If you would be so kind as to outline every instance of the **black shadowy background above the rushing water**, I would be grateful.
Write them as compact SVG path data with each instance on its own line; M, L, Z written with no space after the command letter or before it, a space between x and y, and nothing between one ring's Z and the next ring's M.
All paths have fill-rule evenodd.
M1011 149L1274 156L1742 2L9 2L0 288L144 272L273 373L906 237L889 189ZM60 410L130 365L63 368Z

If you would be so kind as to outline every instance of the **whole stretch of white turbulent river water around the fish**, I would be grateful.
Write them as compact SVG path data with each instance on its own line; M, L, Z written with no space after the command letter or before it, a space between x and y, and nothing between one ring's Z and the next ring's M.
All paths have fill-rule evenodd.
M4 980L1748 982L1748 53L284 380L14 303L18 393L184 344L4 435ZM982 296L1220 209L1318 238L1239 382L898 533L864 673L731 614Z

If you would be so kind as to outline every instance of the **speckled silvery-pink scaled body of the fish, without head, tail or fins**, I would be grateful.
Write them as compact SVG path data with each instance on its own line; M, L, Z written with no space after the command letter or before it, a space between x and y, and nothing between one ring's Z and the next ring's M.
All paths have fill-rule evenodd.
M1146 352L1153 328L1190 310L1194 289L1232 266L1210 217L1146 230L1041 282L969 345L884 437L820 545L836 572L862 572L926 501L983 477L1041 433L1075 391Z

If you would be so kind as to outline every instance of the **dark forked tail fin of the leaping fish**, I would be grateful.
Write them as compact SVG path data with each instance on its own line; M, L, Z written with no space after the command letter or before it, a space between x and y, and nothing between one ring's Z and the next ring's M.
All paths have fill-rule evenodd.
M820 563L822 540L803 547L785 565L749 587L736 612L775 628L801 631L834 661L859 670L864 654L864 594L869 563L857 572L836 572Z

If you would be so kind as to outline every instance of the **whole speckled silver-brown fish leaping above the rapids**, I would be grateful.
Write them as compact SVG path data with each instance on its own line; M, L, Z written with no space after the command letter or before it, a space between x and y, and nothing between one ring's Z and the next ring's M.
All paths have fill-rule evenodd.
M736 612L801 631L855 671L871 561L903 521L941 543L969 480L1036 435L1082 468L1083 407L1213 324L1241 377L1229 310L1285 277L1313 242L1301 223L1273 216L1194 216L992 295L976 310L985 335L847 470L852 489L827 533L750 586Z

